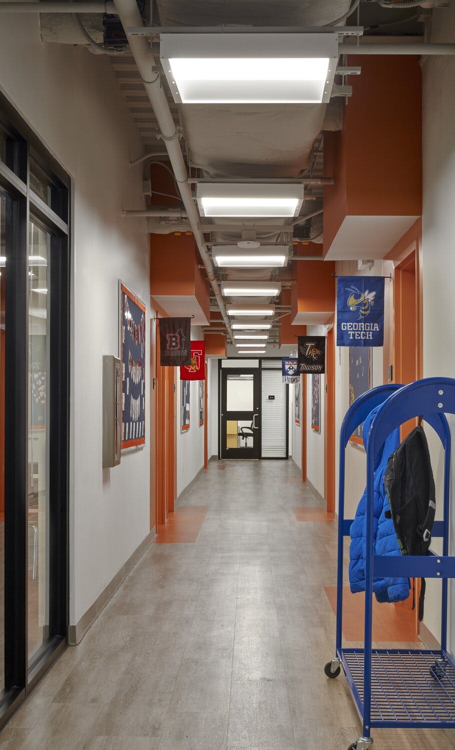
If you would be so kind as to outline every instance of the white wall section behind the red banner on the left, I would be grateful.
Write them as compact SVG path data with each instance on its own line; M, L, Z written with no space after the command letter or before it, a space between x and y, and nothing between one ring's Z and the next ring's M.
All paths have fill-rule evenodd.
M200 326L191 326L191 341L203 339ZM190 381L190 426L181 431L181 386L177 375L177 497L203 467L203 426L199 425L199 381Z

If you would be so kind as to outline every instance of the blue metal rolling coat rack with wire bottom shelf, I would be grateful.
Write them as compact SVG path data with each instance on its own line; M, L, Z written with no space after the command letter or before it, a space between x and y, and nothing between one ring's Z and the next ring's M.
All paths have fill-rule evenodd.
M354 430L382 404L369 431L366 452L366 592L363 649L342 647L343 547L352 519L345 518L345 449ZM426 378L408 386L372 389L348 409L339 452L338 577L336 655L326 664L328 677L344 670L363 722L363 734L349 750L367 750L371 730L381 728L455 728L455 661L447 652L447 579L455 577L449 556L450 431L446 413L455 414L455 380ZM435 429L444 447L443 520L432 536L442 538L442 555L375 556L373 553L373 472L375 455L387 435L416 416ZM441 649L372 649L373 576L441 578Z

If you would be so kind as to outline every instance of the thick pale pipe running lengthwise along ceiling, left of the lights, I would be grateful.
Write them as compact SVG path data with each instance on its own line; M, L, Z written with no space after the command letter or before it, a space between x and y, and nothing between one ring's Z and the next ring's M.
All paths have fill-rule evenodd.
M158 127L161 131L161 138L164 141L164 146L169 154L170 166L173 169L176 181L179 184L180 195L182 196L183 205L188 213L188 220L191 226L191 230L194 234L194 239L199 250L200 257L203 265L205 266L207 276L209 278L210 285L215 294L218 307L221 311L221 317L224 320L224 324L229 332L231 341L234 340L227 317L226 308L224 306L224 300L221 296L221 290L218 286L218 281L215 278L215 270L213 269L212 260L210 260L207 252L206 244L203 239L203 234L199 225L199 214L194 204L193 196L191 194L191 187L188 185L188 172L183 159L182 149L179 142L179 132L176 129L176 125L173 121L173 116L170 112L167 97L161 86L161 77L159 73L154 73L156 68L155 57L149 48L149 42L146 37L143 36L131 36L130 28L143 26L142 19L140 17L139 8L137 7L136 0L115 0L115 12L119 16L122 26L125 29L125 34L128 37L128 43L130 45L131 54L134 57L134 61L137 65L140 77L143 80L143 85L146 89L147 95L152 104L153 111L155 112L156 119L158 121Z

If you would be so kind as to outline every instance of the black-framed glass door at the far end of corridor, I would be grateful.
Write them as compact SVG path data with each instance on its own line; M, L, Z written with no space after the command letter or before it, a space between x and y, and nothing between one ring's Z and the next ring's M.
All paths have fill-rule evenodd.
M221 370L221 458L259 458L258 370Z

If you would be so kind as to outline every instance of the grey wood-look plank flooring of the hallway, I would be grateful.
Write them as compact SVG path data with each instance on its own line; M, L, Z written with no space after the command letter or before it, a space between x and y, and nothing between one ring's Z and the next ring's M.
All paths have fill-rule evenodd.
M149 546L0 747L347 750L360 723L344 677L323 672L336 527L293 511L317 504L291 461L211 461L183 502L206 506L196 541ZM450 732L373 736L453 747Z

